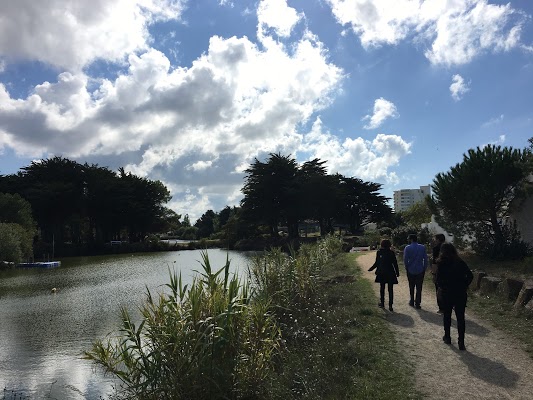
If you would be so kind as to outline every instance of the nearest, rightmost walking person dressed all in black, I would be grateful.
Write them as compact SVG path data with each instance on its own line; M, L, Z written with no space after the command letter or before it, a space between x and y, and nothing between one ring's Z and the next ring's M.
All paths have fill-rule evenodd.
M455 308L457 318L457 333L459 350L465 347L465 308L467 289L474 275L468 265L459 257L457 250L451 243L444 243L440 247L437 259L437 287L440 304L443 308L444 336L442 340L451 344L450 327L452 324L452 309Z

